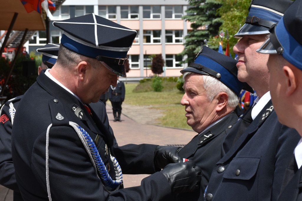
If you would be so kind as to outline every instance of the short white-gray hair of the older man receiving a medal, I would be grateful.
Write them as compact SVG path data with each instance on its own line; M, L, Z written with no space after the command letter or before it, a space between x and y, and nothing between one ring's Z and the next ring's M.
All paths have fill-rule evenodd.
M232 91L229 87L223 84L220 80L210 75L203 75L203 74L188 72L188 71L183 74L182 79L185 81L186 76L189 74L202 76L204 81L203 87L207 91L208 101L212 102L214 97L217 96L217 94L221 92L225 92L229 97L226 106L231 108L232 110L236 108L236 106L239 103L239 97L235 94L234 91Z

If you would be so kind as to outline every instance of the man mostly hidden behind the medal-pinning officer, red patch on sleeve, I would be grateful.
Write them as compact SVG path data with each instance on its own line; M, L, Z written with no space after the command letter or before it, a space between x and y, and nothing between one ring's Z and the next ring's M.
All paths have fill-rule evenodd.
M37 52L42 54L38 75L43 69L53 67L58 57L59 44L46 44ZM23 200L16 182L15 169L11 156L11 130L14 115L23 95L8 100L0 110L0 184L14 191L14 201Z

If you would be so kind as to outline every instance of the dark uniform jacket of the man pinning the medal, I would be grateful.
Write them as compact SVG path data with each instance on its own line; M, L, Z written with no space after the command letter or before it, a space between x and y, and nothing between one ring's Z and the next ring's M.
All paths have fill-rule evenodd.
M12 156L24 200L48 200L48 195L53 200L159 200L169 195L170 185L160 172L146 177L139 187L122 189L120 186L117 191L104 187L79 138L83 132L79 127L95 143L113 180L115 171L110 154L118 161L120 157L127 158L119 161L122 171L125 168L123 173L131 172L131 168L135 171L144 167L145 174L151 174L155 172L156 145L125 145L126 151L120 148L115 153L112 134L91 107L90 110L92 116L76 97L50 80L44 72L24 94L12 130ZM49 145L48 152L46 144ZM108 155L106 150L110 151ZM46 153L49 156L49 186Z

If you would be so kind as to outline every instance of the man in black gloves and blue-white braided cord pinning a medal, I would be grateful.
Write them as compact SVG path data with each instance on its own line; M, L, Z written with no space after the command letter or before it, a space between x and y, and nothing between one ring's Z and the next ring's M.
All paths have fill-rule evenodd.
M87 105L115 86L117 75L126 76L124 61L136 31L95 14L53 25L63 30L57 62L24 94L12 130L24 200L160 200L197 190L200 168L193 161L175 163L176 149L157 145L115 148ZM122 170L154 174L123 189Z

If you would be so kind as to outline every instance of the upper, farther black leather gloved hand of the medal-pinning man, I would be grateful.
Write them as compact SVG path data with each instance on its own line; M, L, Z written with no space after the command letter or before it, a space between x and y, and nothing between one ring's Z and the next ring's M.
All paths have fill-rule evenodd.
M164 168L169 163L180 163L182 159L178 152L182 147L157 146L154 153L154 166Z

